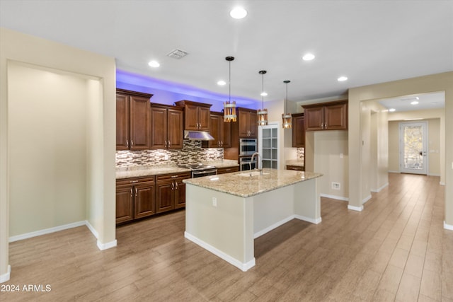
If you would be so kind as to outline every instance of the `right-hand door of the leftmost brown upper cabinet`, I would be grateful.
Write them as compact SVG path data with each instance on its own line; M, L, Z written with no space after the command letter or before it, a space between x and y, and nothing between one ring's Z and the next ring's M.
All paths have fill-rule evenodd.
M151 141L149 98L130 95L130 149L149 149Z

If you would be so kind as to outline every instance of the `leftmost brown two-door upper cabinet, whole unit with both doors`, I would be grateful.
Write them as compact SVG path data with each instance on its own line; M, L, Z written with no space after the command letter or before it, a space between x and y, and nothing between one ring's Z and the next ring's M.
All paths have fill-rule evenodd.
M152 94L117 89L116 149L146 150L151 141Z

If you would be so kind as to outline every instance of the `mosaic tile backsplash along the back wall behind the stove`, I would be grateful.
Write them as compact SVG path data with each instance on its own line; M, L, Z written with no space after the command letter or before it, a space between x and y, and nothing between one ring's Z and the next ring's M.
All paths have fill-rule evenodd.
M117 168L134 165L168 165L178 163L199 163L219 161L224 158L223 148L202 148L201 141L184 140L183 149L116 151Z

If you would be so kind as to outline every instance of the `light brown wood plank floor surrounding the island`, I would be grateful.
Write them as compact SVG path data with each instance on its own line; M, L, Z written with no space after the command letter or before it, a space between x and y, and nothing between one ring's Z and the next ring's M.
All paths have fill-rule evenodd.
M318 225L293 220L257 238L248 272L186 240L184 211L117 228L110 250L84 226L11 243L6 284L52 290L0 301L453 301L444 187L389 180L362 212L322 199Z

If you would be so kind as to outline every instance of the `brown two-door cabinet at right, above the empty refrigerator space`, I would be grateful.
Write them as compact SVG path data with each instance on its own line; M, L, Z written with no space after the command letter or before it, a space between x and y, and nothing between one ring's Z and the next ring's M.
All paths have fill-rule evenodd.
M348 129L348 100L302 105L305 131Z

